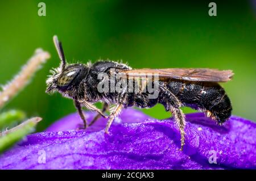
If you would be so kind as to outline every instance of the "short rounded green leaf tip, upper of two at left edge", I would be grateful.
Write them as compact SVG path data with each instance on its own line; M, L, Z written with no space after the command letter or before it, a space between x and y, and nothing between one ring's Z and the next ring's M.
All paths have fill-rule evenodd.
M0 130L20 123L20 121L25 119L25 117L26 113L19 110L10 110L0 113Z

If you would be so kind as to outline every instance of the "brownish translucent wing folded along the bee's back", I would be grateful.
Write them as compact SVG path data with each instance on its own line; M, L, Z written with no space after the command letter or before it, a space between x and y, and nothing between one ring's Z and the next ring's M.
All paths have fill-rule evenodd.
M226 82L233 76L232 70L217 69L133 69L119 70L123 76L130 78L147 77L148 74L158 74L159 78L172 78L185 81Z

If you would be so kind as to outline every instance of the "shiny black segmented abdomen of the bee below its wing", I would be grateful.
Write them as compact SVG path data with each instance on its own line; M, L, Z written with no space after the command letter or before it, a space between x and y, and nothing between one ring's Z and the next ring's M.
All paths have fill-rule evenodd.
M222 124L231 116L232 106L225 90L216 82L170 81L168 89L184 106L203 110Z

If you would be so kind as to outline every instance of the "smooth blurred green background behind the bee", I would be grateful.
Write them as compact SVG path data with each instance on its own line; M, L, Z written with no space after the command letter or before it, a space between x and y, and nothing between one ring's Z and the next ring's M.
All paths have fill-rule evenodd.
M69 62L109 58L133 68L232 69L233 81L222 85L233 114L256 120L253 1L214 1L217 16L208 15L210 1L49 0L43 1L46 16L38 16L39 2L0 2L0 83L11 79L36 48L52 56L2 111L16 108L43 117L39 131L75 112L72 100L45 93L49 69L59 65L52 43L56 34ZM143 111L159 119L170 116L161 105Z

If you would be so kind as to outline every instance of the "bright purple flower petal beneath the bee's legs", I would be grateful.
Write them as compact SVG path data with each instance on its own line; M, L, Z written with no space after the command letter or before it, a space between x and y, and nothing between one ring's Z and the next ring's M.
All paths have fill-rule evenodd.
M203 113L188 114L183 151L173 119L129 108L109 135L105 119L86 132L71 131L81 123L73 113L27 136L0 156L0 169L256 169L256 124L237 116L219 127Z

